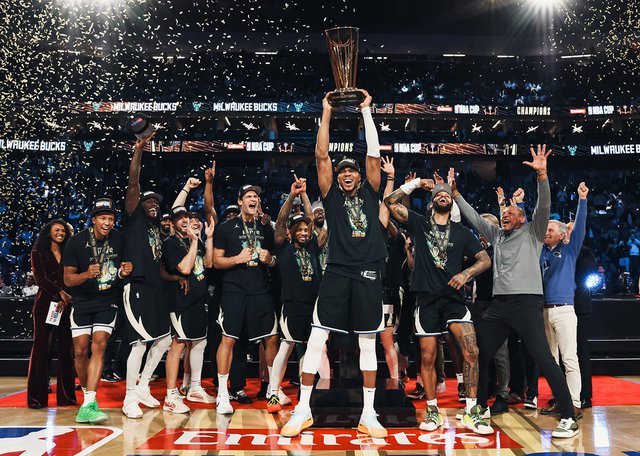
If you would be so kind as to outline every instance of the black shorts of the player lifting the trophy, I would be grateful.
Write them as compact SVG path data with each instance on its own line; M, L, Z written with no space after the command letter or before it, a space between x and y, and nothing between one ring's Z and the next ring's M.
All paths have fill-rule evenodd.
M312 326L356 334L384 331L380 275L363 281L327 270L320 283Z

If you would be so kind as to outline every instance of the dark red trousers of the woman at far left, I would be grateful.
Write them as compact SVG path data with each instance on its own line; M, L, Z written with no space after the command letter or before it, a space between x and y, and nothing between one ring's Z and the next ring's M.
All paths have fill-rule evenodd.
M73 341L71 339L71 307L62 313L60 326L45 323L47 314L33 314L33 347L27 375L27 405L47 407L49 398L50 353L54 346L58 352L58 405L76 405Z

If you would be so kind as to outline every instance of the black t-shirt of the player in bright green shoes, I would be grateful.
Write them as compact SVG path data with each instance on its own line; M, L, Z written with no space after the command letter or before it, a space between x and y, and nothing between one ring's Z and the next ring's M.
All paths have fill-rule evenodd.
M122 255L122 234L112 229L106 239L101 241L96 239L94 252L91 243L92 231L93 228L80 231L69 239L62 256L62 265L75 267L76 272L81 274L89 269L89 265L102 260L100 277L85 280L77 287L71 287L74 307L95 310L118 304L122 299L121 280L118 278ZM106 251L103 253L105 243L107 243Z

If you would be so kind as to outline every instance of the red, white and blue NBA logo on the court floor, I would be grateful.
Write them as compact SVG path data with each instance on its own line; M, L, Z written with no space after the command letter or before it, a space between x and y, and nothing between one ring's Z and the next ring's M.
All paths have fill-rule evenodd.
M120 434L104 426L0 426L0 455L88 455Z

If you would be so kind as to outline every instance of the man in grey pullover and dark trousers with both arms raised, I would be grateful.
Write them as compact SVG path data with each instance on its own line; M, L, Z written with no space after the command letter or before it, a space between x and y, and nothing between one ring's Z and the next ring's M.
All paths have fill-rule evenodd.
M579 432L571 395L562 370L553 359L544 333L544 304L540 254L549 223L551 190L547 177L547 157L551 150L531 148L531 162L523 162L537 173L538 201L531 222L518 206L508 206L502 214L502 228L478 214L460 195L455 173L449 173L449 184L460 212L486 237L494 248L493 299L489 310L478 324L480 378L478 402L487 405L489 363L512 331L516 331L531 356L544 372L560 408L560 424L552 431L556 438L573 437Z

